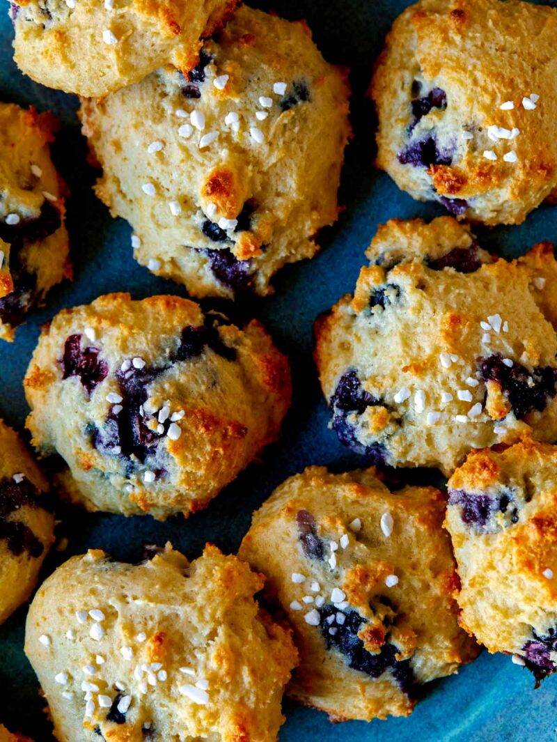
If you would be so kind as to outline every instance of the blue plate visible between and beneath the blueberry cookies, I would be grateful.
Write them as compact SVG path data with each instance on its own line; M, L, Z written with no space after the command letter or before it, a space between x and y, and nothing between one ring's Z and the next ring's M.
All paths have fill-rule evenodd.
M148 516L123 518L67 509L59 533L67 534L63 554L53 552L45 576L60 562L87 548L103 548L116 559L138 559L145 543L168 539L190 558L206 541L225 552L237 550L247 531L251 512L286 477L309 464L328 464L335 470L357 467L365 459L352 456L327 429L328 414L312 363L312 323L340 296L352 292L363 252L378 224L392 217L432 218L441 209L403 194L386 174L372 167L374 116L365 97L372 65L392 21L409 4L405 0L277 0L273 9L289 19L306 18L314 39L331 62L349 65L355 139L346 154L340 203L346 211L320 236L322 252L309 262L284 269L275 281L274 296L254 306L256 314L291 358L294 401L283 436L268 448L260 464L252 464L227 487L207 510L191 519L157 523ZM266 0L260 3L268 9ZM85 164L85 140L76 119L77 101L22 76L12 61L13 31L7 16L0 21L0 99L50 109L62 120L53 157L71 188L67 203L75 278L50 292L47 306L32 312L16 341L0 341L0 416L22 428L27 415L22 379L39 335L39 327L67 306L87 303L113 291L134 298L183 290L155 278L132 258L127 223L113 220L93 195L93 172ZM515 257L540 240L557 240L557 210L536 209L518 227L477 229L481 242L504 257ZM414 476L414 475L412 475ZM428 475L429 477L432 474ZM0 721L12 729L48 742L50 726L42 711L39 684L23 653L27 608L16 611L0 627ZM458 676L432 683L425 700L409 719L372 723L346 722L336 726L326 715L285 702L287 721L280 742L397 742L420 741L541 741L557 738L556 682L546 680L534 690L533 677L509 657L487 652Z

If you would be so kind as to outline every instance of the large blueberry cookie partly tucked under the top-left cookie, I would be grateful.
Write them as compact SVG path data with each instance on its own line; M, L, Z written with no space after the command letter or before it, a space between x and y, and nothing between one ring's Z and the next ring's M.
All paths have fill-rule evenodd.
M81 118L135 257L194 296L267 294L337 218L348 88L306 24L242 7L188 75L157 70Z

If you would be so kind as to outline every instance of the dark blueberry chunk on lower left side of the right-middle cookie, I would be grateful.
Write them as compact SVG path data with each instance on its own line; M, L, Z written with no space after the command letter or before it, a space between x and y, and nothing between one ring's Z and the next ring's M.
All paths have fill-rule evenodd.
M371 456L375 464L382 464L386 460L386 450L383 444L374 443L365 446L360 443L356 438L355 427L347 419L351 413L361 415L367 407L372 407L374 404L380 404L380 401L362 389L355 370L347 371L340 377L331 398L332 426L343 445L355 453Z

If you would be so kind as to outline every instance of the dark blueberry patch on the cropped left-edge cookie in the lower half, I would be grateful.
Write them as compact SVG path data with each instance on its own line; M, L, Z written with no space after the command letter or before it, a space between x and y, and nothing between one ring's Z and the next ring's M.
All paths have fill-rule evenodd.
M25 551L31 557L40 557L44 546L27 525L19 520L7 520L7 516L23 507L45 505L50 510L48 500L39 496L39 490L29 479L24 478L21 482L15 482L11 477L0 480L0 539L6 541L14 556L19 557Z

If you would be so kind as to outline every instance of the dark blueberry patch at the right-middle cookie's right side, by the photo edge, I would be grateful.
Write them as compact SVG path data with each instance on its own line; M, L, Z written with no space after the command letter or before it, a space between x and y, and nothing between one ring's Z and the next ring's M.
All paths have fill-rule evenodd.
M500 385L518 420L532 410L541 412L547 399L556 395L557 370L550 366L538 366L530 372L516 362L507 366L501 355L495 353L480 361L479 367L484 381L496 381Z

